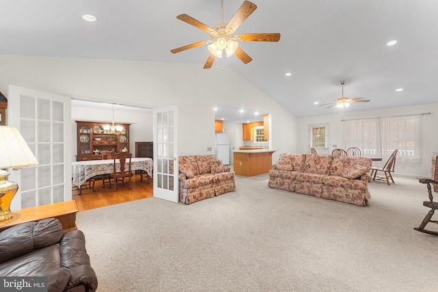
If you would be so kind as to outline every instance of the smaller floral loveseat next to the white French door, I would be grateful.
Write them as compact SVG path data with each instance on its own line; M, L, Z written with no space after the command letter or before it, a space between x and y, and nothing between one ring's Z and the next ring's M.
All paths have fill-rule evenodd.
M179 157L179 201L192 204L235 191L234 172L216 155Z

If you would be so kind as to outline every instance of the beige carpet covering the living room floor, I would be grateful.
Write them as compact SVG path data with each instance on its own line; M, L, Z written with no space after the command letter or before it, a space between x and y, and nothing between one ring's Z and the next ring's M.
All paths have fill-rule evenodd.
M371 182L369 207L268 187L191 205L149 198L78 213L99 291L438 291L438 237L413 230L426 187ZM438 198L438 196L437 196Z

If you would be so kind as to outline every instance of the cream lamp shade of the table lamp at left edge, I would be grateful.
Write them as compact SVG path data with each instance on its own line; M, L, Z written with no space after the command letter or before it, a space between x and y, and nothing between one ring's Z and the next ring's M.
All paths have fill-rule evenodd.
M0 126L0 169L36 165L34 153L16 127Z

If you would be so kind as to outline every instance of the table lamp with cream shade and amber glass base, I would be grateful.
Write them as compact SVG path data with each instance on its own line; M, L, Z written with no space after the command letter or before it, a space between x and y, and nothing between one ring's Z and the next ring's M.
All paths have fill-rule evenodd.
M8 181L10 173L3 169L18 170L36 164L38 161L18 129L0 126L0 222L14 217L10 205L18 190L18 184Z

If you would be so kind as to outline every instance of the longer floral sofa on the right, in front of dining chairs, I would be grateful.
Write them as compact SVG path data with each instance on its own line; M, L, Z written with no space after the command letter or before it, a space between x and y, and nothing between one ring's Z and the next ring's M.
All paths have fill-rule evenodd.
M367 206L371 159L283 153L269 172L269 187Z

